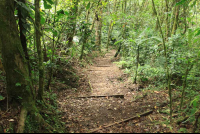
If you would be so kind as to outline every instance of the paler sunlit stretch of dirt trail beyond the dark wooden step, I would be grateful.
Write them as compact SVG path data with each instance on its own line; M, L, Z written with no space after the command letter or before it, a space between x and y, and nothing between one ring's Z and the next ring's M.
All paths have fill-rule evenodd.
M106 53L104 57L96 58L96 63L89 67L88 75L93 89L91 95L127 93L124 83L119 81L122 72L111 62L115 52L115 50L111 50L109 53Z

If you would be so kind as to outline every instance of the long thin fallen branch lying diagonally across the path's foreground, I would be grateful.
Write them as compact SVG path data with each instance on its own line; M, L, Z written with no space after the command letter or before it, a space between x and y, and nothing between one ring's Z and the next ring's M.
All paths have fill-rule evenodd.
M111 126L116 125L116 124L120 124L120 123L123 123L123 122L128 122L128 121L130 121L130 120L134 120L134 119L140 118L140 117L142 117L142 116L149 115L149 114L151 114L152 112L153 112L153 110L150 110L150 111L147 111L147 112L144 112L144 113L140 114L139 116L134 116L134 117L131 117L131 118L128 118L128 119L119 121L119 122L115 122L115 123L109 124L109 125L107 125L107 126L103 126L103 127L101 127L101 128L97 128L97 129L91 130L89 133L94 133L94 132L99 131L99 130L101 130L101 129L103 129L103 128L108 128L108 127L111 127Z

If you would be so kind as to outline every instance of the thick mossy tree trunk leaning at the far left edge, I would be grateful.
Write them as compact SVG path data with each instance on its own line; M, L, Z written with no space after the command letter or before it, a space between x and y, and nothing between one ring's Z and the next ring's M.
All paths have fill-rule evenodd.
M14 18L14 0L0 2L0 46L6 71L7 93L10 99L31 106L33 92L28 64L18 36ZM14 76L14 77L13 77Z

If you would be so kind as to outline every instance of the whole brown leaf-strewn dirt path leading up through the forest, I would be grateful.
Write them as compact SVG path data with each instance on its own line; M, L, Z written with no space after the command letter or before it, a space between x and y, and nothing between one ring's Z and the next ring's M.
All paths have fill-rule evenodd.
M154 92L145 95L144 92L136 90L137 85L130 83L123 71L112 62L115 52L116 50L110 50L105 56L96 57L93 65L78 70L87 76L91 92L77 92L75 97L67 96L66 91L61 93L62 97L58 103L69 133L88 133L94 130L99 133L141 133L157 130L153 128L150 131L149 128L149 125L152 128L153 116L125 120L152 111L157 101L166 99L165 94L160 95L158 99ZM124 95L124 98L94 97L103 95ZM120 121L122 123L115 124ZM114 125L104 128L113 123Z

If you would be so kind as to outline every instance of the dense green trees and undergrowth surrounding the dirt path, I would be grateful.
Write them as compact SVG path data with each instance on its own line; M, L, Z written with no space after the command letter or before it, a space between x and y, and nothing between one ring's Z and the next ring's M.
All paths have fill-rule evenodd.
M168 90L168 122L179 120L173 117L178 113L199 132L199 6L198 0L1 0L0 80L6 94L0 101L20 106L16 132L65 132L51 89L54 77L74 81L75 90L79 76L63 67L75 60L85 67L95 51L104 56L110 48L133 84Z

